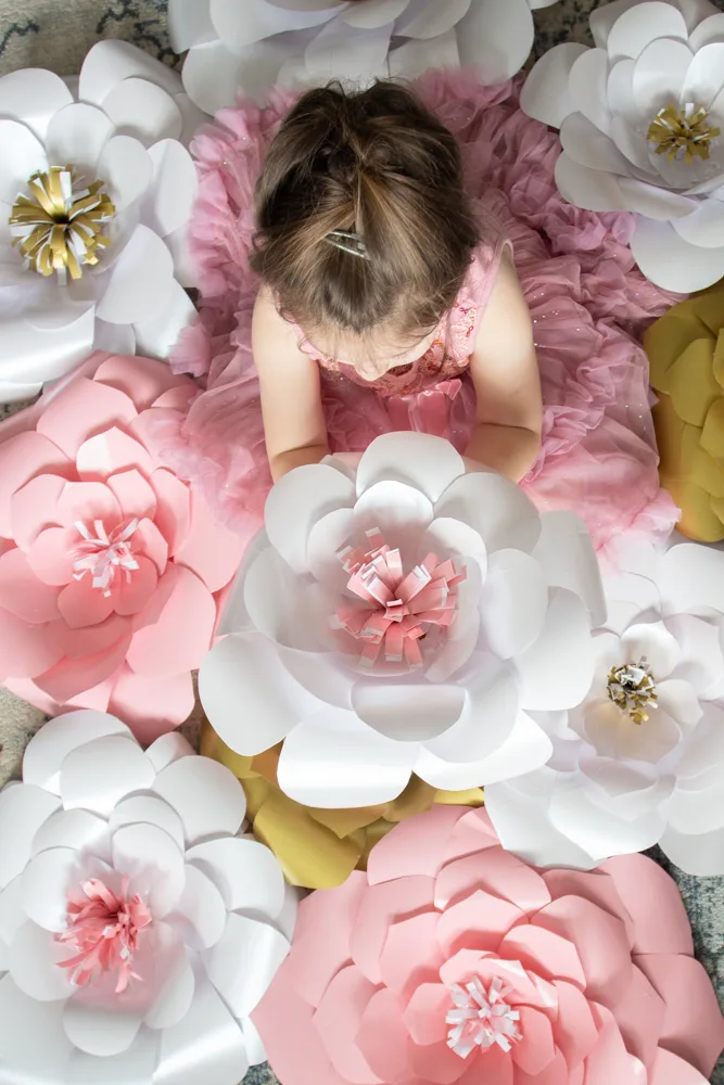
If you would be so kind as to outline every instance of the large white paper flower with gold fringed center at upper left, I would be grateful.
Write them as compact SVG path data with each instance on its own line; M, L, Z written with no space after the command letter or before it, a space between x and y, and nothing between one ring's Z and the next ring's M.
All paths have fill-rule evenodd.
M176 73L123 41L94 46L79 80L0 79L0 401L93 346L167 356L193 316L183 142L200 116Z

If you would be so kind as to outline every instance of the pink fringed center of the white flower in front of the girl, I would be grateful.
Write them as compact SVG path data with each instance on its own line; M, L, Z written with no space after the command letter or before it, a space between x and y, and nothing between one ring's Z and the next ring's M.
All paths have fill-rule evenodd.
M418 641L432 625L449 626L466 571L458 572L450 559L441 562L429 553L405 575L399 550L386 545L382 532L374 528L366 534L369 549L347 546L339 557L351 574L347 587L371 605L341 607L336 621L355 640L365 641L360 654L365 665L373 666L383 652L389 663L405 661L419 667Z

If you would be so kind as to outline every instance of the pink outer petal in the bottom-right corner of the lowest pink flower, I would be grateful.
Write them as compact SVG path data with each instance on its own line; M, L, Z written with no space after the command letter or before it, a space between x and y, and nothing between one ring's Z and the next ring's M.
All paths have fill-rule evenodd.
M724 1020L703 968L693 957L670 954L646 954L636 963L665 1004L659 1045L709 1080L724 1047Z

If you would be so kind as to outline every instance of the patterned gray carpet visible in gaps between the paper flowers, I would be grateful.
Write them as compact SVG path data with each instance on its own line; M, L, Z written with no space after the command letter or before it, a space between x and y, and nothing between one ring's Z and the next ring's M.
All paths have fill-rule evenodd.
M715 2L724 10L724 0ZM560 0L536 12L536 53L558 41L590 43L587 17L594 7L596 0ZM166 9L167 0L0 0L0 75L30 66L72 74L101 38L124 38L168 64L177 64L168 41ZM8 411L0 406L0 418L4 413ZM0 787L17 775L23 750L42 722L35 709L0 689ZM185 727L191 740L195 727L192 717ZM690 878L671 867L658 850L651 854L678 883L691 919L697 957L724 1006L724 878ZM244 1085L276 1081L268 1067L258 1067L250 1071ZM724 1059L711 1081L712 1085L724 1085Z

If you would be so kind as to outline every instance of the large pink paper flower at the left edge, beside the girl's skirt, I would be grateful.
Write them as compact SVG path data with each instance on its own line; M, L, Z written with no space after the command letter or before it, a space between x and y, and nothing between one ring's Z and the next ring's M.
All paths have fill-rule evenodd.
M45 712L109 710L150 740L193 706L240 545L145 433L194 393L96 354L0 426L0 684Z

